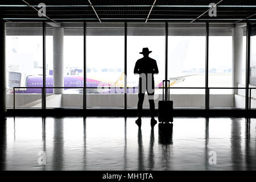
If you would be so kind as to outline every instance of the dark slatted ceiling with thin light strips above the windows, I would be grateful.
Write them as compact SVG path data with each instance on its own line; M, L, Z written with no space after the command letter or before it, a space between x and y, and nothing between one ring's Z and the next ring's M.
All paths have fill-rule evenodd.
M40 17L42 2L46 16ZM217 16L209 16L210 3ZM7 22L256 22L256 1L1 0L0 16Z

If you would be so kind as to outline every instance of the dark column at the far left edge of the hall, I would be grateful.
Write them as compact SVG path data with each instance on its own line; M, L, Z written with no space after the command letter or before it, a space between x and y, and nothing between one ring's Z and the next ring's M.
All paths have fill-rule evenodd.
M6 113L5 22L0 20L0 114Z

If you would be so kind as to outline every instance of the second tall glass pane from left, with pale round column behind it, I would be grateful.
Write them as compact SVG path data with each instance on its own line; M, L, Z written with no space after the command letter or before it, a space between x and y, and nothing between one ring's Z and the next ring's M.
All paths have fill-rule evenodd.
M61 27L46 27L46 86L71 87L47 89L47 108L82 107L78 99L82 97L84 86L83 50L83 23L61 23ZM50 101L50 98L56 102Z

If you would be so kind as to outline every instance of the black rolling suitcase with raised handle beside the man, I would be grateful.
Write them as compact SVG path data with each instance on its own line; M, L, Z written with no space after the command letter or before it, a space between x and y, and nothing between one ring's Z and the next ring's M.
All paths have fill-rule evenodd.
M170 87L170 80L163 80L164 82L167 81L168 87ZM164 96L164 89L163 89L163 100L158 102L158 121L160 123L163 122L172 122L173 121L173 101L170 101L170 89L167 89L167 98Z

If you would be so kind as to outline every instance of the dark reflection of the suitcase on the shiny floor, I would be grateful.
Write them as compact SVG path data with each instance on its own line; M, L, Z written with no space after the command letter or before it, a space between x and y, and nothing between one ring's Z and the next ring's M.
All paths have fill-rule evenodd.
M158 125L158 143L162 147L162 168L165 170L170 170L172 129L172 123L159 123Z

